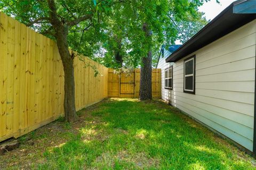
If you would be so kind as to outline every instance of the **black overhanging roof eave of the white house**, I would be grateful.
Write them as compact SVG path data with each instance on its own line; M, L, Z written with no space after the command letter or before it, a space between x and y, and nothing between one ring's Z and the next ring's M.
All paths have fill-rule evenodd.
M166 62L176 62L181 58L195 52L196 50L206 46L207 44L212 43L213 41L227 35L231 31L242 27L242 25L252 21L255 19L256 15L253 14L241 14L241 13L234 13L234 6L239 5L239 10L241 10L241 4L247 3L247 0L236 1L231 3L225 10L223 10L219 15L217 15L211 22L209 22L203 29L198 31L196 35L190 38L185 44L183 44L179 49L177 49L174 53L172 53L169 57L166 58ZM251 2L251 1L250 1ZM254 1L255 2L255 1ZM256 4L256 3L255 3ZM250 7L252 4L244 5L245 7ZM242 9L244 12L244 10ZM247 15L254 15L254 17L247 17ZM236 21L236 19L239 19ZM241 21L240 21L241 20ZM229 22L234 23L229 23ZM237 23L235 23L237 22ZM226 25L225 25L226 24ZM233 27L230 27L232 25ZM221 26L221 27L220 27ZM225 27L226 26L226 27ZM216 31L218 29L218 31ZM214 30L214 32L212 32ZM210 36L209 36L210 35ZM208 38L208 39L207 39ZM191 45L194 45L195 48L192 48ZM189 49L190 48L190 49Z

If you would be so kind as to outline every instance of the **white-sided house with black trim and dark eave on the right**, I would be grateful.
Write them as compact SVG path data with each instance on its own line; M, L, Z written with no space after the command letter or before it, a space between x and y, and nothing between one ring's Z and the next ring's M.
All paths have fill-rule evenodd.
M162 47L162 98L256 153L256 1L235 1L174 52Z

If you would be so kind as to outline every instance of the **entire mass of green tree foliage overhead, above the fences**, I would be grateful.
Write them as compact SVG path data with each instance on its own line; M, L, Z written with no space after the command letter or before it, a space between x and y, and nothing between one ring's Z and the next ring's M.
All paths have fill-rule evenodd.
M68 22L79 16L92 15L90 20L69 28L69 47L104 64L107 67L138 67L145 55L148 42L143 37L142 20L148 20L153 32L153 64L163 44L185 43L207 20L197 7L204 0L157 0L157 1L99 1L58 0L60 20ZM3 0L2 11L27 24L47 37L53 38L53 29L47 22L49 7L46 1ZM118 58L118 57L117 57Z

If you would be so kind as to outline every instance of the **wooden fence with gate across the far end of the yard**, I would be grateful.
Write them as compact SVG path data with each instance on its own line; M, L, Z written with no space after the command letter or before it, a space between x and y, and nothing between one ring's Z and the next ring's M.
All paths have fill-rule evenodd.
M129 76L108 69L108 97L139 98L139 91L140 69L134 69ZM161 69L152 70L152 96L161 98Z

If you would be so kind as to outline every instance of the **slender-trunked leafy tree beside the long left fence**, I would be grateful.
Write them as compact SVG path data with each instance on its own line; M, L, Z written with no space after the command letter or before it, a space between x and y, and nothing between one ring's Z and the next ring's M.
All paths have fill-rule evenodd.
M57 41L65 73L65 118L69 122L76 121L77 115L73 66L75 55L69 52L67 38L70 29L79 29L81 24L88 25L87 28L89 28L94 22L100 22L99 13L104 11L110 1L97 2L96 0L3 0L0 2L0 7L5 13Z

